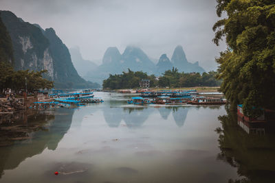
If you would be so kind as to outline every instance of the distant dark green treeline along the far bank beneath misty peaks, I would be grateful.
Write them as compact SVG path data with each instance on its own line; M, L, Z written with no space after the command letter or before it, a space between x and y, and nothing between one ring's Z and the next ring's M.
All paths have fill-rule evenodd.
M122 89L122 88L140 88L142 79L150 80L150 87L194 87L194 86L220 86L221 80L216 79L217 72L210 71L209 73L179 73L177 68L165 71L158 78L155 75L147 75L142 71L133 72L129 69L128 72L122 74L110 75L107 80L103 81L103 88Z

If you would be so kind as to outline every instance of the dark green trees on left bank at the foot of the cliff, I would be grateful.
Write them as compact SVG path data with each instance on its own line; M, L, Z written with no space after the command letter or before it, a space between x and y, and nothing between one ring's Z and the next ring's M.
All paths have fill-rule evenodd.
M28 92L41 88L52 88L54 82L50 82L42 77L42 74L45 72L47 71L14 71L9 64L0 62L0 93L3 93L7 88L11 88L16 92L25 89L26 80Z

